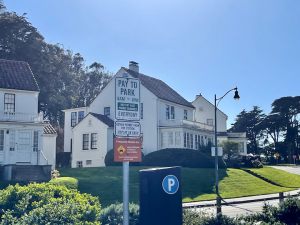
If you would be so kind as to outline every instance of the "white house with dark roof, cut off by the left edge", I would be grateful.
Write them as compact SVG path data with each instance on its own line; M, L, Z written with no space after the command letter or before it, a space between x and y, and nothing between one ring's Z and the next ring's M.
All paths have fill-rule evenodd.
M51 166L55 167L56 132L38 112L38 96L38 84L26 62L0 59L0 170L4 179L37 180L41 171L48 171L49 177Z

